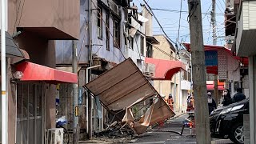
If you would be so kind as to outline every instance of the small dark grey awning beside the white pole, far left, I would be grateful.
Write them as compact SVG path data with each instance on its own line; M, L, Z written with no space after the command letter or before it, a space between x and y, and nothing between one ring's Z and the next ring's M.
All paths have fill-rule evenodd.
M1 43L1 40L0 40L0 43ZM6 32L6 57L21 57L21 58L24 57L22 50L18 48L18 46L14 42L14 39L7 32Z

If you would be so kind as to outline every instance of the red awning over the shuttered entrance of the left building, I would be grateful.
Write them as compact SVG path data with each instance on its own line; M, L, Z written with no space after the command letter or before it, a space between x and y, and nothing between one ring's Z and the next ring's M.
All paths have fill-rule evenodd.
M46 81L50 83L78 83L78 74L56 70L32 62L21 62L16 70L24 74L21 81Z

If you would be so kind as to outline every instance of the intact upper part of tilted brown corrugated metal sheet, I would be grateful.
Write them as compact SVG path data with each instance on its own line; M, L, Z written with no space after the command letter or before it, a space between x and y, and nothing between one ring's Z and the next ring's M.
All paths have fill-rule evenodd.
M133 106L157 94L130 58L86 84L86 88L110 110Z

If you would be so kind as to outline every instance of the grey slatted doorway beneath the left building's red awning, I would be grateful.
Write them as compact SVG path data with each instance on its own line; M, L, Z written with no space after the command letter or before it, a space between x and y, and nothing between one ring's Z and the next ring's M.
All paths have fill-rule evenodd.
M17 83L17 144L44 142L42 86L42 83Z

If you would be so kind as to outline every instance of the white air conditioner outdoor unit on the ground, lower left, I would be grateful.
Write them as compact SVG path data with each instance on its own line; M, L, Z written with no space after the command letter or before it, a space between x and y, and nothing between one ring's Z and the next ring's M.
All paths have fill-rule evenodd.
M63 144L63 129L62 128L48 129L47 144Z

